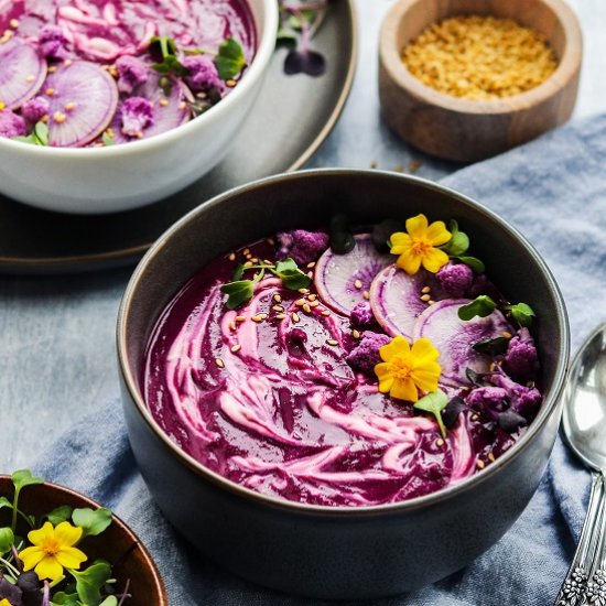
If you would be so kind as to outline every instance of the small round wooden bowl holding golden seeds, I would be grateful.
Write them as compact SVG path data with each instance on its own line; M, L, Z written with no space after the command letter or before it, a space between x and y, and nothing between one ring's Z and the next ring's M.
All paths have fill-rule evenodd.
M402 50L428 25L448 17L511 18L542 33L559 59L538 87L497 100L439 93L414 77ZM565 122L574 108L583 54L581 26L562 0L400 0L387 14L379 43L379 96L390 127L432 155L475 162L530 141Z

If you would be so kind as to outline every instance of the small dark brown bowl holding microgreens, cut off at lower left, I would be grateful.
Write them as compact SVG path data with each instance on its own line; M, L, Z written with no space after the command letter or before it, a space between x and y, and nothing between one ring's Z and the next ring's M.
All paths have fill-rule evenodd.
M10 476L0 476L0 496L12 500L13 494ZM19 509L36 517L48 513L62 505L68 505L74 509L101 507L88 497L48 481L26 486L19 497ZM8 509L3 509L2 515L7 516L7 520L9 519ZM7 520L1 518L0 526L4 526ZM164 584L148 550L132 530L116 516L102 534L87 537L84 551L90 562L96 559L107 560L112 565L120 587L123 587L127 578L130 580L129 593L132 597L127 600L129 606L169 605Z

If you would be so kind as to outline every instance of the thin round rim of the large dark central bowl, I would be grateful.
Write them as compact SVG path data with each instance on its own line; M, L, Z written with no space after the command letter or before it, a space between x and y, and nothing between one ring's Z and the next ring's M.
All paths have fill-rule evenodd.
M327 176L333 175L334 177L347 178L348 176L372 176L374 178L391 178L391 180L402 180L415 183L422 187L426 187L434 192L445 194L450 197L454 197L458 203L463 203L467 207L472 207L474 210L478 212L479 215L484 215L493 223L496 223L500 229L506 231L509 236L513 237L526 250L529 257L532 258L539 270L544 275L550 290L553 292L555 297L555 315L558 318L558 324L561 326L561 336L562 336L562 355L559 357L554 370L554 381L549 389L548 393L544 397L543 403L539 411L537 418L529 425L524 434L509 448L505 454L499 456L494 463L485 467L484 469L475 473L474 475L465 478L464 480L447 486L424 495L421 497L414 497L412 499L407 499L403 501L392 502L392 504L382 504L382 505L372 505L372 506L320 506L320 505L310 505L302 504L297 501L290 501L288 499L282 499L279 497L272 497L263 495L261 493L256 493L250 488L246 488L235 481L231 481L216 472L208 469L202 463L197 462L193 456L185 453L181 450L160 425L155 422L151 415L144 399L139 389L137 388L137 378L132 372L128 364L127 355L127 331L128 331L128 317L131 314L132 299L137 293L139 283L145 280L145 273L149 263L158 256L162 255L163 249L169 245L169 242L177 237L177 234L181 229L186 228L187 224L193 220L197 215L204 214L215 206L221 204L224 201L229 199L234 196L239 196L246 192L250 192L258 187L272 186L275 183L281 183L284 181L297 181L305 178L314 178L316 176ZM154 434L155 437L166 446L167 453L174 456L181 464L184 464L190 470L194 472L196 475L202 476L204 480L210 481L213 485L217 486L223 490L252 501L259 506L267 506L273 509L279 509L283 511L296 512L297 515L309 515L309 516L323 516L326 518L368 518L376 516L386 516L386 515L396 515L401 512L412 512L419 509L425 509L428 507L437 505L442 501L447 501L451 498L457 497L458 495L465 494L469 490L475 490L479 485L489 480L495 474L499 473L502 468L508 467L513 459L518 458L523 451L528 448L530 443L533 441L542 428L548 423L552 414L555 414L559 409L559 401L561 400L561 394L565 383L566 370L569 366L570 358L570 326L569 318L566 314L566 309L564 305L564 299L555 279L543 261L541 256L534 249L534 247L526 239L526 237L505 219L502 219L495 212L490 210L483 204L476 202L469 196L462 194L451 187L437 184L426 178L419 176L394 173L390 171L380 171L380 170L358 170L358 169L313 169L306 171L299 171L295 173L282 173L279 175L272 175L269 177L260 178L253 182L250 182L238 187L234 187L218 196L215 196L205 204L199 205L184 217L173 224L148 250L145 256L141 259L134 272L132 273L122 300L120 302L120 307L118 311L117 318L117 329L116 329L116 343L117 343L117 355L118 355L118 367L119 372L122 378L122 382L128 391L129 396L129 405L133 405L136 412L142 418L143 422L147 423L148 429ZM139 369L136 369L138 372Z

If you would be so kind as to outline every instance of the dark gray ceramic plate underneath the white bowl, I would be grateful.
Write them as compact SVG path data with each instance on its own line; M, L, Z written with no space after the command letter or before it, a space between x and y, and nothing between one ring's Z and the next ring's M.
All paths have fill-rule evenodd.
M129 213L102 216L37 210L0 195L0 271L89 271L134 262L177 218L236 185L302 166L326 139L351 88L357 54L354 0L331 4L314 47L322 77L286 76L275 52L251 119L213 172L178 194Z

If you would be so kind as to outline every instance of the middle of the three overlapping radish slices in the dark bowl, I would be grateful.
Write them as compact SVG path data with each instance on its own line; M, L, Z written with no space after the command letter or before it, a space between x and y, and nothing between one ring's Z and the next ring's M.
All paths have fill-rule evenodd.
M393 264L385 268L372 280L370 307L388 335L403 335L410 340L416 317L428 309L428 303L421 299L424 294L431 299L444 296L434 274L421 269L414 275L409 275Z

